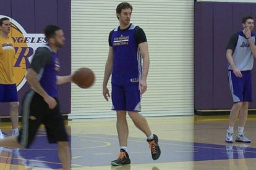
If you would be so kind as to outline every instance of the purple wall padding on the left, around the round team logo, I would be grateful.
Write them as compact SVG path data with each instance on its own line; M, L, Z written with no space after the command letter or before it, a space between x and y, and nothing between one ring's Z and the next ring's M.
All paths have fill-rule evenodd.
M61 26L66 37L66 44L58 52L61 63L59 75L69 75L71 70L70 6L70 0L0 1L0 15L7 15L13 18L30 34L43 33L43 29L49 24ZM28 89L27 83L20 89L20 103ZM59 100L62 113L70 113L70 89L70 84L59 86ZM1 103L0 115L9 116L9 105Z

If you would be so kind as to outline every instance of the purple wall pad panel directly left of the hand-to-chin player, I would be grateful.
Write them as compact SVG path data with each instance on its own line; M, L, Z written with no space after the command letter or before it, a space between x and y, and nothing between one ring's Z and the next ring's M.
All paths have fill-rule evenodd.
M213 3L213 107L228 108L232 104L228 86L226 46L232 31L230 3ZM241 26L241 25L240 25ZM225 95L223 95L225 94Z

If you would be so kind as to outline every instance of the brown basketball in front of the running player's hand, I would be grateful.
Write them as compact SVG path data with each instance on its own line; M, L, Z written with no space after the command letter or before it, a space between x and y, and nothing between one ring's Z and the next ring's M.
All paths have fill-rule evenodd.
M79 70L75 71L72 75L72 82L83 89L91 87L94 83L94 79L93 71L85 67L79 68Z

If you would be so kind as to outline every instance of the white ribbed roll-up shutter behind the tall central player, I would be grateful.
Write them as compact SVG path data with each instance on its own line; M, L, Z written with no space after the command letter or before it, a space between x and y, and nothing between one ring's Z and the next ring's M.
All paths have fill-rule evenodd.
M79 89L72 84L70 118L116 116L102 95L108 56L109 31L119 25L120 1L71 1L72 71L89 67L95 85ZM133 0L132 22L145 31L150 51L148 91L142 114L194 115L194 1ZM109 84L110 89L110 84Z

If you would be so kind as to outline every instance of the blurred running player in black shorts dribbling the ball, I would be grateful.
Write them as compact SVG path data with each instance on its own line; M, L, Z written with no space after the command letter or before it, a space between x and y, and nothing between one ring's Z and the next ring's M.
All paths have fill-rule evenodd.
M28 148L35 139L41 124L46 127L49 143L58 144L58 155L62 168L70 170L70 150L67 132L64 126L58 102L58 84L68 83L72 75L58 76L58 49L64 46L64 33L56 25L45 28L48 44L36 49L27 81L31 89L23 99L22 128L18 137L0 140L2 147Z

